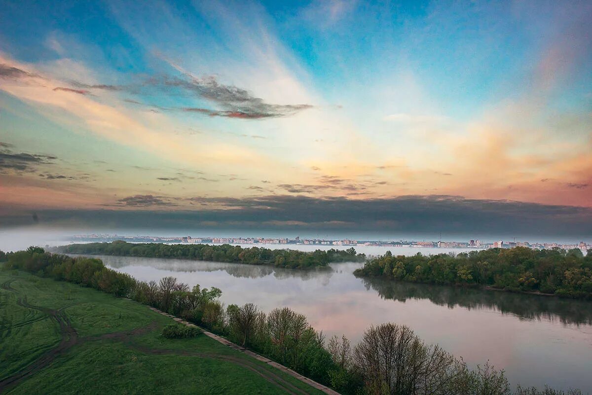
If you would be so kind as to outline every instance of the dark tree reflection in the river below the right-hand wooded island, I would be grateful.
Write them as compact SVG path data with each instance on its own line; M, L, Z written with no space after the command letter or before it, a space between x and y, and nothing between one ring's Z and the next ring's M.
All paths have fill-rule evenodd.
M383 299L406 302L408 299L428 299L430 302L466 309L490 309L526 320L559 320L565 324L592 325L592 303L557 297L484 291L463 287L434 286L361 279L366 289L373 289Z

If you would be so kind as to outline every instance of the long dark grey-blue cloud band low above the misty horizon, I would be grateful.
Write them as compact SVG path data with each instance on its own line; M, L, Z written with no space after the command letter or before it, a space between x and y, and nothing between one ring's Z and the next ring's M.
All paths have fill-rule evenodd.
M145 211L166 208L180 198L134 195L118 200L123 208L104 211L43 211L40 218L59 224L123 228L249 228L342 229L387 231L390 234L423 232L472 237L533 237L552 235L580 238L592 233L592 209L574 206L541 205L507 200L465 199L461 196L398 196L388 199L312 198L308 196L253 196L243 198L189 199L192 210ZM41 212L40 212L41 213ZM16 215L16 212L15 212ZM30 211L7 216L4 226L30 222ZM18 217L18 218L17 218ZM19 219L20 218L20 219ZM282 225L283 224L283 225ZM299 225L295 225L299 224ZM472 238L471 237L471 238Z

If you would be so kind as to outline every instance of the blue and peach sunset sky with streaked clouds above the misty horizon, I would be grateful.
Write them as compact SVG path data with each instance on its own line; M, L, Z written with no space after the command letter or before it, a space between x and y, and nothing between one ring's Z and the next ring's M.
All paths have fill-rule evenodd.
M590 1L3 1L0 228L592 237L590 20Z

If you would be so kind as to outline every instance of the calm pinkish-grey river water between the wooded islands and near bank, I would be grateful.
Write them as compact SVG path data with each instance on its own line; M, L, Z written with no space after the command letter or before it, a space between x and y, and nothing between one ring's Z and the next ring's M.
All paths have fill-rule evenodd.
M291 307L327 336L345 334L352 342L370 325L402 323L426 342L438 343L470 364L489 360L504 368L513 386L547 383L592 394L592 302L356 279L352 271L359 263L299 271L101 258L140 280L175 276L191 286L218 287L226 304L252 302L265 311Z

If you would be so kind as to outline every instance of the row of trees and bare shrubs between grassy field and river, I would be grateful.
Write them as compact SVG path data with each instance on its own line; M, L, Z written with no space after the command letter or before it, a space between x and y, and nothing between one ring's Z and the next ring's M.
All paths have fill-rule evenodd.
M8 270L24 270L40 277L69 281L115 296L129 297L181 316L330 385L343 394L512 393L503 371L495 370L488 364L471 370L462 359L437 345L425 344L403 325L385 323L372 326L359 344L352 347L345 337L333 336L325 342L323 335L308 324L304 315L288 308L274 309L268 314L251 303L224 308L219 299L221 291L214 287L202 289L195 286L189 289L173 277L165 277L159 283L137 281L128 274L106 268L101 260L49 254L38 247L7 254L4 259L7 260L4 267ZM177 333L175 328L165 332L173 338L186 336ZM82 369L83 365L79 361L79 364L70 367L70 373ZM39 374L42 375L43 371ZM195 374L202 373L198 369ZM517 387L514 394L566 393L551 388ZM570 390L567 394L581 392Z

